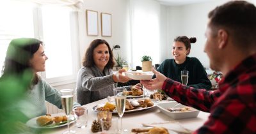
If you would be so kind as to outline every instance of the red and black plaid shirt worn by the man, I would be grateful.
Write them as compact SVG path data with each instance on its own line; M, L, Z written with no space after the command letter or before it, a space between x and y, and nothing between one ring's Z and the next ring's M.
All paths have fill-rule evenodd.
M194 133L247 134L256 133L255 101L252 100L252 94L255 93L250 82L240 83L235 87L226 84L224 87L228 94L221 96L220 90L194 89L170 79L164 82L162 88L174 100L184 105L211 112L204 125Z

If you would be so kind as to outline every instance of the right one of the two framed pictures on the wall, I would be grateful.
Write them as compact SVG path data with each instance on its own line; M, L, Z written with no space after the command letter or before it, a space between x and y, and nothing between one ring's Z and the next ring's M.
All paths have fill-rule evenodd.
M101 35L111 36L111 14L101 13Z

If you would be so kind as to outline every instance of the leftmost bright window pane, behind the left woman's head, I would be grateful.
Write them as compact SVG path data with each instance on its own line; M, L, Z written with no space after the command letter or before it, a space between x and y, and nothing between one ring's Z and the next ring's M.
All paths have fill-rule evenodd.
M15 9L15 10L13 10ZM0 70L13 38L34 37L33 5L3 1L0 4ZM0 77L1 77L0 73Z

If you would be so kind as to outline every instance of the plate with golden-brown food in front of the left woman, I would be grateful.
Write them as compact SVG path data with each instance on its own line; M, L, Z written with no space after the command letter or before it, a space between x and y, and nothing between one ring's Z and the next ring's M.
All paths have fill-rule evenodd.
M76 121L76 117L74 115L70 115L70 124ZM39 117L34 117L30 119L27 123L27 126L30 128L39 128L39 129L47 129L47 128L59 128L61 126L67 125L67 116L66 115L42 115Z

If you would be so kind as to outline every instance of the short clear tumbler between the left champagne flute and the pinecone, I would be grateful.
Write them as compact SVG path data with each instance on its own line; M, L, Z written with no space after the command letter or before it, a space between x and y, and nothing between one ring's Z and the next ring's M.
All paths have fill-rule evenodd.
M76 115L77 128L85 128L88 121L88 110L86 107L73 109L74 115Z

